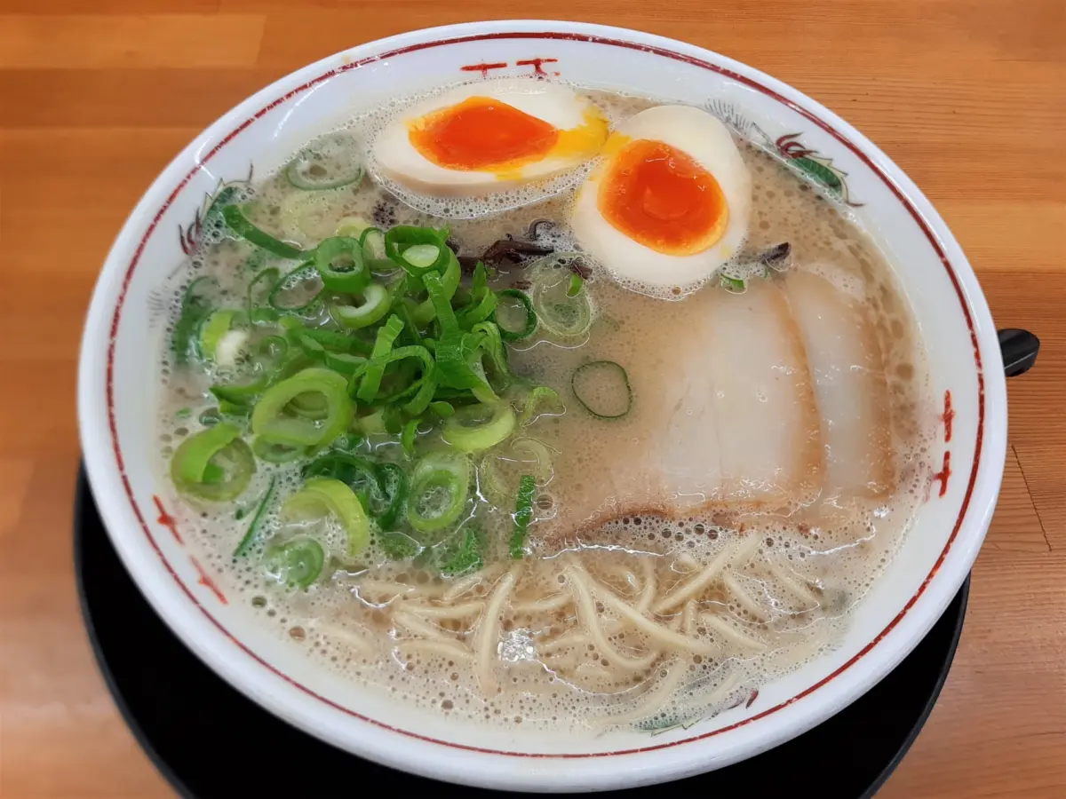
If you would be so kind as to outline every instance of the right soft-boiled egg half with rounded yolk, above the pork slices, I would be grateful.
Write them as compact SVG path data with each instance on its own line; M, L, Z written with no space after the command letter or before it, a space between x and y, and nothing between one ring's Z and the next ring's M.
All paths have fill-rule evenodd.
M752 177L726 127L658 105L611 135L574 206L581 246L619 279L653 289L709 277L747 235Z

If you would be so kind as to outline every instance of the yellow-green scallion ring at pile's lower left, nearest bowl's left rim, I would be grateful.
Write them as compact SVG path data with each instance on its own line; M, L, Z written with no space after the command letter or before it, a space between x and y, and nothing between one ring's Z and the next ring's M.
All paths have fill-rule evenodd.
M219 422L182 441L171 458L178 491L212 502L239 496L256 471L255 456L240 436L237 425Z

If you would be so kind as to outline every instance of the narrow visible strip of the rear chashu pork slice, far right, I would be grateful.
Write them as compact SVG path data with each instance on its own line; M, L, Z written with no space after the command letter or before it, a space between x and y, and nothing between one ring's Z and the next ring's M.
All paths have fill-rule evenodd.
M784 284L814 379L825 445L823 498L885 496L895 485L895 457L888 381L870 312L809 272L790 272Z

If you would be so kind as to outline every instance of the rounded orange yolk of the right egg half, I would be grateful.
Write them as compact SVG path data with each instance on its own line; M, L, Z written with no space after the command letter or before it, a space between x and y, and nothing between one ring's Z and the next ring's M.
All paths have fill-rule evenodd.
M683 150L649 138L630 142L614 154L597 206L616 230L672 256L702 252L729 222L714 176Z

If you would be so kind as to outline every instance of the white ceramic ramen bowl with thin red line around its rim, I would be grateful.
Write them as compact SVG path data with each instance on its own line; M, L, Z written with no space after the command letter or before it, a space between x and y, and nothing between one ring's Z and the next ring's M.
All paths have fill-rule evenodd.
M442 83L544 71L588 86L704 105L833 183L897 265L928 349L944 417L930 498L902 551L833 654L739 706L655 737L594 739L467 725L390 702L320 670L253 623L183 543L151 467L154 292L198 233L220 182L265 174L296 146L376 104ZM821 168L819 168L820 165ZM305 67L209 127L130 214L96 286L78 411L93 492L126 568L156 610L248 697L338 747L442 780L519 790L595 790L725 766L817 724L869 689L932 626L968 573L999 491L1006 441L1002 360L963 251L917 186L861 133L794 88L692 45L602 26L479 22L361 45ZM950 402L948 401L950 397Z

